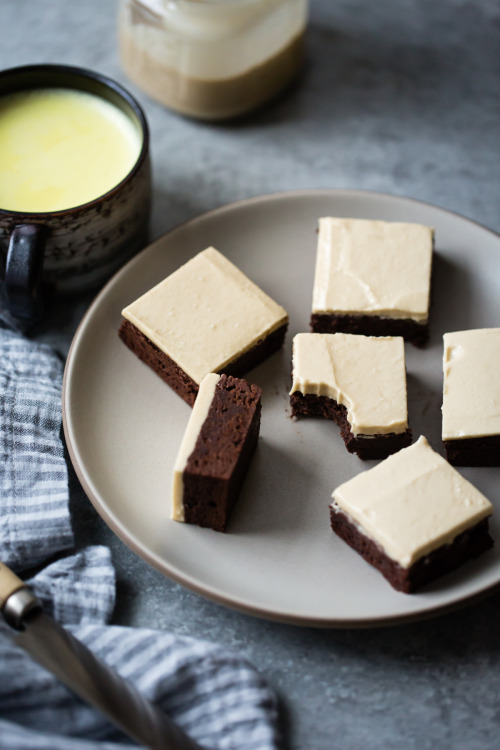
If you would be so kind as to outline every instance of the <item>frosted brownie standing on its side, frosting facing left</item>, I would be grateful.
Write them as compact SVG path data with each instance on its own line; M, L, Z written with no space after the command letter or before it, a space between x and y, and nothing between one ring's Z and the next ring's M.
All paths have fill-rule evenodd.
M225 531L257 445L261 393L243 379L203 378L174 467L175 521Z

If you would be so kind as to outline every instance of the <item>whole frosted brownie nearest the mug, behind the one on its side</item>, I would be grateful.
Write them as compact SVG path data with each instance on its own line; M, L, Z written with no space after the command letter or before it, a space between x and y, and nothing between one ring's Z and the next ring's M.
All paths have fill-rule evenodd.
M283 344L288 315L209 247L123 311L124 343L191 406L209 372L242 375Z

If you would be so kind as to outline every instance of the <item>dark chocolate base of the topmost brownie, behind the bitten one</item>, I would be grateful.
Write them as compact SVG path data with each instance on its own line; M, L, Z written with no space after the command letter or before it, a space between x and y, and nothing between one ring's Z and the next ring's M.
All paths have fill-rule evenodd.
M406 318L380 318L376 315L311 315L313 333L355 333L363 336L402 336L416 346L429 338L429 324Z

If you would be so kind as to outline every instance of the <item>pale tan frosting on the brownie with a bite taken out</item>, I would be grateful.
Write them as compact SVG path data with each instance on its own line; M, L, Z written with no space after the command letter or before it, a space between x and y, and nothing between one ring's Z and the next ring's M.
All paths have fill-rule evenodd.
M354 435L408 428L404 341L400 336L299 333L290 394L327 396L347 409Z

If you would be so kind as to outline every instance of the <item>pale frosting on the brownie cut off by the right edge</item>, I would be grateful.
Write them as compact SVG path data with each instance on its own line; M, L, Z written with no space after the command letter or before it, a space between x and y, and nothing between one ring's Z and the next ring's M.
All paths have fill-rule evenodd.
M500 435L500 328L443 336L443 440Z

